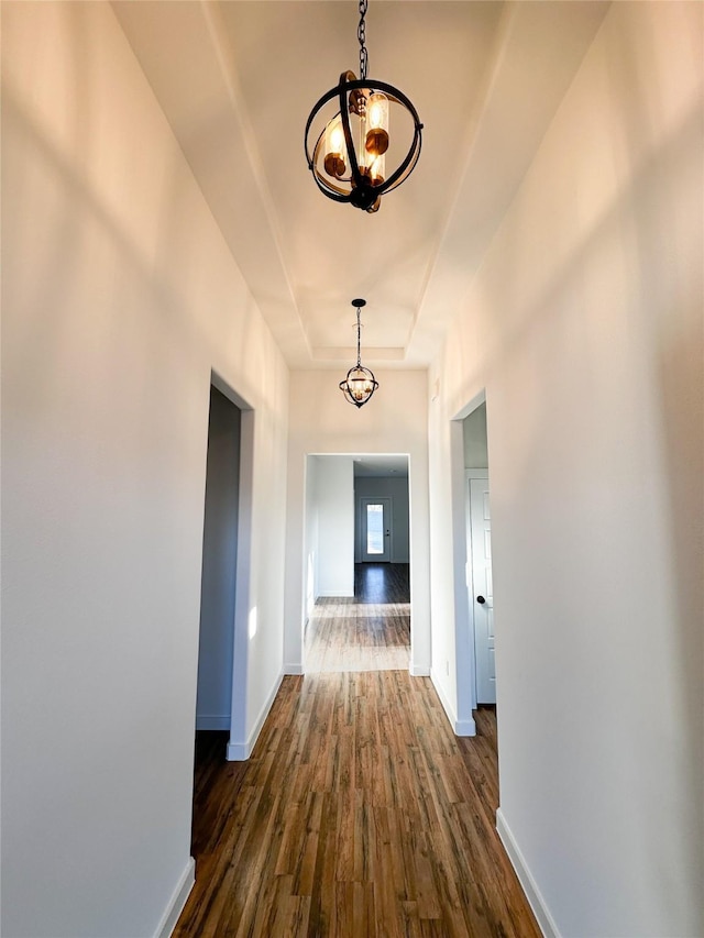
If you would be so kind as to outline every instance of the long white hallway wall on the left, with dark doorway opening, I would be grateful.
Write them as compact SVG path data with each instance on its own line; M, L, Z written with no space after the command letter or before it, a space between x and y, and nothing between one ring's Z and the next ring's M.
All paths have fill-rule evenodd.
M151 936L191 872L211 368L254 408L244 741L283 663L288 373L110 5L2 20L1 930Z

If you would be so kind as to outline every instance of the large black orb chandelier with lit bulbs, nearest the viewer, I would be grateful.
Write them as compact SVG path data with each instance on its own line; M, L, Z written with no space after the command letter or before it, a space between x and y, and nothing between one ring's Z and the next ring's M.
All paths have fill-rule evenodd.
M320 191L338 202L351 202L359 209L375 212L385 192L396 189L410 176L418 157L422 124L410 100L384 81L367 79L366 23L369 0L360 0L360 78L343 71L340 82L320 98L306 124L306 158ZM312 152L310 130L322 108L333 98L339 111L320 132ZM388 118L392 104L404 108L413 121L414 133L408 153L387 174L386 152L389 145ZM320 125L318 123L318 125Z

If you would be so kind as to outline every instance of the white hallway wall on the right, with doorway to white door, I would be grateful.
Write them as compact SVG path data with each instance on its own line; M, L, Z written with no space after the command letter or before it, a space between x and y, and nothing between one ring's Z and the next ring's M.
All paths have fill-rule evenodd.
M610 8L430 374L433 666L485 388L499 823L564 936L704 934L703 14Z

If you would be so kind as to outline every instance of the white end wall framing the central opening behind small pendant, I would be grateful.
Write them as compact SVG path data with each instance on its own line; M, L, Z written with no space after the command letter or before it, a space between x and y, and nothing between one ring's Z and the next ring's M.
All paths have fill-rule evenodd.
M380 389L360 409L333 372L296 372L290 382L286 528L286 669L302 666L306 455L408 453L410 493L411 672L430 669L427 373L376 373Z

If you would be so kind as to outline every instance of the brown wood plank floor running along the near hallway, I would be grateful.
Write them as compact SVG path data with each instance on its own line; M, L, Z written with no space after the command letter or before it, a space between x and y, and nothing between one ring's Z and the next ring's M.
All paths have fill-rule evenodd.
M495 831L495 713L476 720L459 739L429 678L348 671L285 677L249 762L199 735L175 936L537 938Z

